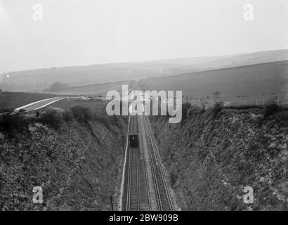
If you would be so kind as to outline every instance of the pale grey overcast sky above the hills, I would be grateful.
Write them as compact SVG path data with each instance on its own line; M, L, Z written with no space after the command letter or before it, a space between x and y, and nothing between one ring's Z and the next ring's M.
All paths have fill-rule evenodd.
M288 0L0 0L0 72L288 49L287 27Z

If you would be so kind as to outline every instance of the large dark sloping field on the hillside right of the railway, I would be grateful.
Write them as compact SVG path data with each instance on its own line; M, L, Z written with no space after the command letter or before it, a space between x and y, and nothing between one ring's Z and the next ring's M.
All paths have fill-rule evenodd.
M286 94L287 69L288 61L280 61L142 79L140 84L148 90L183 91L183 96L194 99L211 99L219 91L218 98L224 101L239 101L240 98L260 101Z

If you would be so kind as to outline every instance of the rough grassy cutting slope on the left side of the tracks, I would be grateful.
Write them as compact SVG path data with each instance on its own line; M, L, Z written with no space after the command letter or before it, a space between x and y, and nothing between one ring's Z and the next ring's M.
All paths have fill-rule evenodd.
M110 123L110 124L108 124ZM122 174L122 119L30 124L30 134L0 133L1 210L111 210ZM32 203L34 186L44 203ZM116 190L117 191L117 190Z

